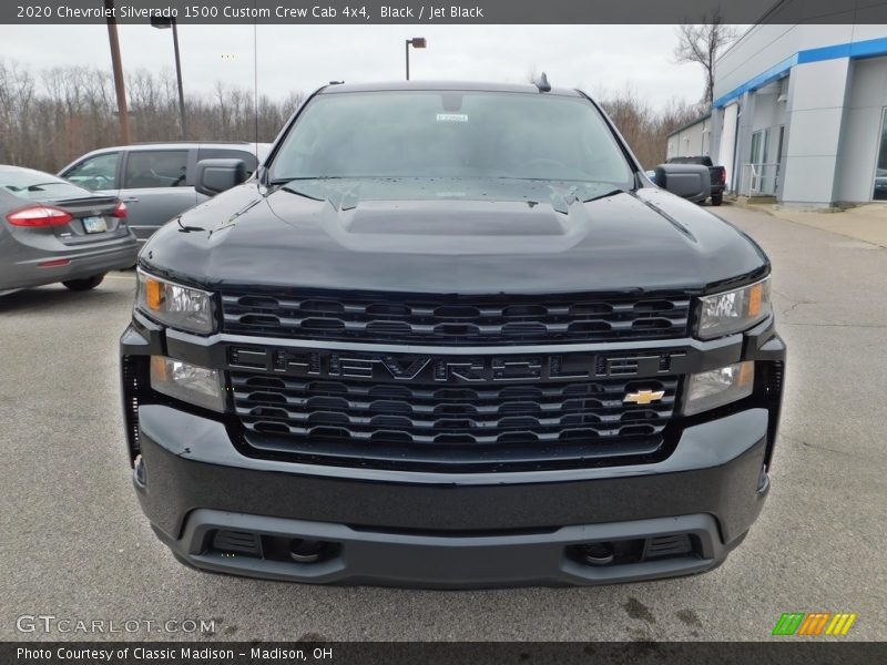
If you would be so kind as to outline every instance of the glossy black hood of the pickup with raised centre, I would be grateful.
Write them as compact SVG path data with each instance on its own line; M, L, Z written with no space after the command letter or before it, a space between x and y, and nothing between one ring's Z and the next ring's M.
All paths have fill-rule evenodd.
M252 182L140 259L208 287L438 294L703 290L768 269L742 232L661 190L463 178Z

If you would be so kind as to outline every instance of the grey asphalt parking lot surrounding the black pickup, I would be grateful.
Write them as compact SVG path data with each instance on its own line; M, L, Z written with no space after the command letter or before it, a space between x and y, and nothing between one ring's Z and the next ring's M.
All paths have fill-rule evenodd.
M745 208L789 347L773 490L745 543L693 577L591 589L314 587L183 567L130 484L116 340L132 273L0 297L0 640L23 614L215 620L210 640L768 640L783 612L887 626L887 249ZM177 638L146 631L111 638Z

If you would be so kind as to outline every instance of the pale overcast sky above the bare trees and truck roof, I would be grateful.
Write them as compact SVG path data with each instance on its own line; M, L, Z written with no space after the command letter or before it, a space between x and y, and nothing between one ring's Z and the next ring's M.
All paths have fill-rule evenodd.
M173 68L170 30L119 31L124 70ZM410 53L412 79L522 82L534 66L553 85L598 95L630 85L656 108L703 93L702 68L673 62L673 25L258 25L257 35L259 92L275 99L330 80L402 79L411 37L428 39ZM252 89L253 25L182 25L179 39L186 93L218 80ZM104 24L0 25L0 59L111 69Z

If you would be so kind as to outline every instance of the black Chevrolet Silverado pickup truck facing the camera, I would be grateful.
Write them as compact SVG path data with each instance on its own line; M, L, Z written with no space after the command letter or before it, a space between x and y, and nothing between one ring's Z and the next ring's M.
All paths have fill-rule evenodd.
M180 561L598 584L743 540L783 390L769 263L583 93L330 85L248 181L203 165L231 188L142 249L121 339L135 490Z

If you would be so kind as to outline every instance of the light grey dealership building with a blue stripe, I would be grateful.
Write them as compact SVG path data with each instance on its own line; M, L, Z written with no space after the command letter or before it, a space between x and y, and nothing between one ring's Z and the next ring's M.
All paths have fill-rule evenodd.
M717 59L714 98L710 154L731 191L887 200L887 25L755 25Z

